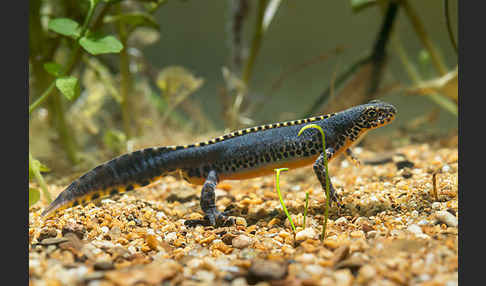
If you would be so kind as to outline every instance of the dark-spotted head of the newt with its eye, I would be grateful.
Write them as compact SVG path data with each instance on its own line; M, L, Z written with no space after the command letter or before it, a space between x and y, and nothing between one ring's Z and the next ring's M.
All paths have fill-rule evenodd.
M355 124L370 130L391 123L395 119L397 109L389 103L375 99L358 106L358 112Z

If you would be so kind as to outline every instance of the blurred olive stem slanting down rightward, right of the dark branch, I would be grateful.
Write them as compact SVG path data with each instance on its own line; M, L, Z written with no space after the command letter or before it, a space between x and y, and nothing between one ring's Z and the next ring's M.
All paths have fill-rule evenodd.
M442 62L439 53L435 49L434 45L432 44L432 41L430 40L429 36L425 32L425 27L418 17L416 11L412 8L410 3L407 0L401 1L401 4L405 10L405 13L407 14L410 22L412 23L412 26L417 33L417 36L419 37L420 41L424 45L425 49L430 54L432 63L436 70L439 72L440 75L445 75L447 73L447 67L444 65Z

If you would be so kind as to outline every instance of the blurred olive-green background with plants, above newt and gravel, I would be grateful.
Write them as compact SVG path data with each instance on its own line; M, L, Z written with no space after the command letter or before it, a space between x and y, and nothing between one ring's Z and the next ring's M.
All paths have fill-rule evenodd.
M457 21L439 0L29 1L29 174L372 98L399 110L388 148L457 136Z

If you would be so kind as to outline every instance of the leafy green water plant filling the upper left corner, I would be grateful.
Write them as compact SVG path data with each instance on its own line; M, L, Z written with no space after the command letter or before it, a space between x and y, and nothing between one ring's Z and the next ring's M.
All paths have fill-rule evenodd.
M46 105L48 123L56 128L57 138L70 162L77 164L81 157L76 142L79 140L76 129L66 118L66 109L78 102L84 89L80 72L92 69L101 81L110 83L106 86L121 107L124 136L133 136L132 118L136 114L130 98L134 95L129 71L131 60L127 51L129 37L139 27L158 32L159 26L152 14L166 1L31 2L29 115ZM121 78L116 88L112 82L113 71L107 68L107 54L119 55Z

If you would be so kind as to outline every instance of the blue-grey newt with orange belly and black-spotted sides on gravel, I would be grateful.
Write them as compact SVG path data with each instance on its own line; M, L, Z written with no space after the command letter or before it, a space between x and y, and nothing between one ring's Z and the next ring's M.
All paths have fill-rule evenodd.
M163 176L179 173L191 184L202 185L200 206L203 220L187 220L188 226L228 225L234 223L216 208L215 188L223 180L243 180L269 175L276 168L299 168L313 164L313 170L325 190L324 154L328 162L339 154L353 157L350 147L366 132L395 119L396 108L372 100L337 113L246 128L184 146L146 148L116 157L73 181L42 212L83 205L103 197L147 186ZM325 134L305 125L319 125ZM330 184L331 200L338 195Z

